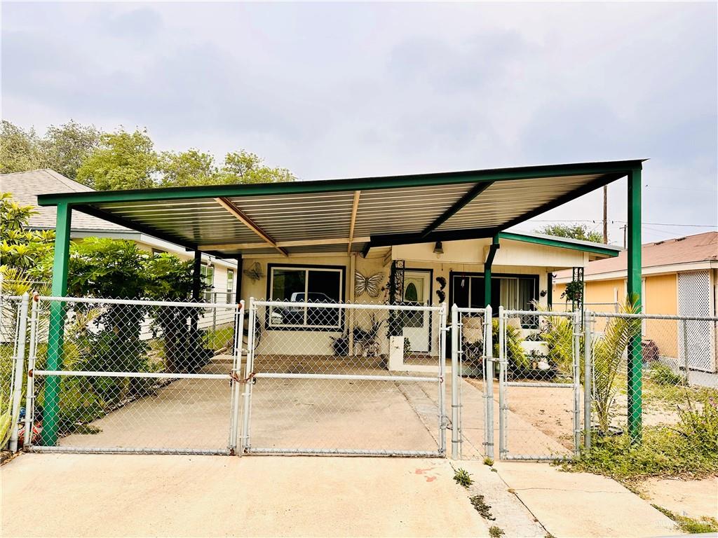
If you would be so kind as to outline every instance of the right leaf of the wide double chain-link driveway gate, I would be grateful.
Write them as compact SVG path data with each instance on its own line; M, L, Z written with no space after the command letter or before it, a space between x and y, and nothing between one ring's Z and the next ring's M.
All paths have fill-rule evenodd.
M249 454L444 456L443 306L250 300Z

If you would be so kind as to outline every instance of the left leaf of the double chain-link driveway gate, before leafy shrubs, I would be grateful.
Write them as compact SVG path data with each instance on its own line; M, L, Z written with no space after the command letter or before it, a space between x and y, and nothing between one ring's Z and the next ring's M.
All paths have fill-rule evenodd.
M24 445L83 453L234 453L243 306L38 297Z

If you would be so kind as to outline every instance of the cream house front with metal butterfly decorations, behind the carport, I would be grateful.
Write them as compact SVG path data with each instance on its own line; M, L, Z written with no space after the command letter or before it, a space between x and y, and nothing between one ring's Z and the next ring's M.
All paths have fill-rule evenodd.
M304 255L245 254L241 297L268 301L384 304L390 302L389 280L401 272L402 296L409 304L483 308L485 263L493 240L472 239L373 247L366 253ZM549 308L551 275L562 268L586 267L591 260L618 255L620 247L540 234L503 233L491 266L490 303L512 310ZM369 286L372 285L372 288ZM310 308L287 318L266 312L264 345L289 353L302 341L317 354L332 354L332 340L347 331L346 322ZM411 350L437 357L438 324L428 313L404 324ZM386 350L384 350L386 351Z

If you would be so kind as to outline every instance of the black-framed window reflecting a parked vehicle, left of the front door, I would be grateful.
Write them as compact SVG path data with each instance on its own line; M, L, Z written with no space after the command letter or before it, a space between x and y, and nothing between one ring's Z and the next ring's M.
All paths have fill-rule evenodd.
M342 316L338 308L292 306L292 303L340 303L342 268L270 266L269 271L269 298L287 303L272 308L269 326L340 329Z

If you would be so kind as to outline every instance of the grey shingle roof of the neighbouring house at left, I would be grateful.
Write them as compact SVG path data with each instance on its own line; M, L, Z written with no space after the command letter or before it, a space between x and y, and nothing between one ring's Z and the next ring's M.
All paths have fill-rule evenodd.
M2 189L2 192L9 192L18 204L32 205L36 213L30 217L29 226L42 230L55 229L57 208L54 206L39 207L37 205L38 194L90 192L94 190L50 169L0 174L0 189ZM73 230L129 231L126 227L78 211L73 212L72 226Z

